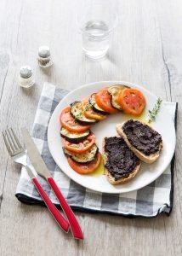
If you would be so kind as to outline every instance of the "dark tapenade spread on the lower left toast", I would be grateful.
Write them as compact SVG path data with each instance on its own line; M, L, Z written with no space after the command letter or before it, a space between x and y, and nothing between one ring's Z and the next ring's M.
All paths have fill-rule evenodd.
M122 137L105 137L105 154L107 154L105 167L115 180L128 177L139 165L139 159L128 148Z

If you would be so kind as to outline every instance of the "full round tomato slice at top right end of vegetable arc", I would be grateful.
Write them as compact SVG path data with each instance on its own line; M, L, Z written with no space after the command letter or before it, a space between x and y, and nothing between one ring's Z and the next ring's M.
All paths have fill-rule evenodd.
M124 89L120 92L118 102L124 113L139 115L145 108L145 96L140 90Z

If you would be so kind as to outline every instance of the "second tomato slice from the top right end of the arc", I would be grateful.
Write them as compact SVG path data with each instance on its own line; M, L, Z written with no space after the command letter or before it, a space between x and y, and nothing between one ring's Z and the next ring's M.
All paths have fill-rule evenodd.
M111 95L107 91L107 89L100 90L95 95L95 101L97 102L97 105L104 109L108 113L117 113L118 110L116 108L113 108L111 106Z

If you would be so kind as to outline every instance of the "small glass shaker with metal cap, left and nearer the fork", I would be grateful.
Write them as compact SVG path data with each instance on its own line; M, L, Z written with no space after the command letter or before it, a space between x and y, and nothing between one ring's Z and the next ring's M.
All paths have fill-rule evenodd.
M19 84L23 88L30 88L33 84L35 84L32 76L31 67L20 67Z

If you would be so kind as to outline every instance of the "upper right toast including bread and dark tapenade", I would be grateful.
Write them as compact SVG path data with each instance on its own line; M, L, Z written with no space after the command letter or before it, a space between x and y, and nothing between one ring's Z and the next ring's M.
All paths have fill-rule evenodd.
M140 160L148 164L157 160L163 147L162 136L151 126L139 120L130 119L117 125L116 129Z

